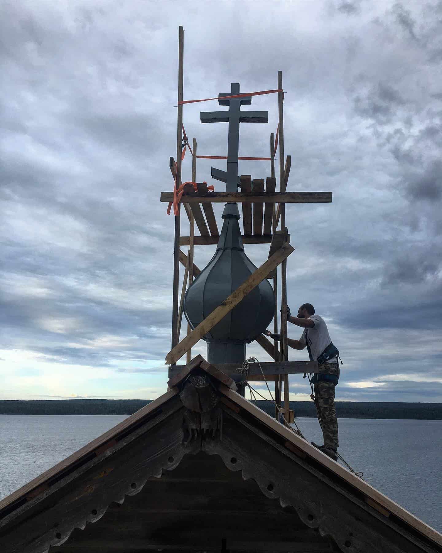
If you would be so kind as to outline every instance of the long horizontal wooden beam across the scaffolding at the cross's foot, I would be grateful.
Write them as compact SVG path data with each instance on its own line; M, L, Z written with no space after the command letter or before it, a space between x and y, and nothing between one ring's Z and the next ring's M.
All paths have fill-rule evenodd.
M209 192L207 195L192 192L183 194L181 202L184 204L199 204L202 202L215 202L225 204L228 202L257 204L261 202L281 202L285 204L329 204L333 194L331 192L274 192L273 194L255 194L254 192ZM161 192L160 201L173 201L173 192Z

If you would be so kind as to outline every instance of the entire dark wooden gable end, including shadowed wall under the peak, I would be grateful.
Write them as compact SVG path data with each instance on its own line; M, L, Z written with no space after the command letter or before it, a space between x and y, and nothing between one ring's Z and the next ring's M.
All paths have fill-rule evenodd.
M442 535L201 356L169 384L0 502L2 553L442 553Z

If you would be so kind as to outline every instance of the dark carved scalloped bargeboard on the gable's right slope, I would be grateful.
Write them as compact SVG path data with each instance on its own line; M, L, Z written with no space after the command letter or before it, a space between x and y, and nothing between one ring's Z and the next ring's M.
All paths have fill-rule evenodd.
M330 536L341 551L442 551L391 518L386 519L363 498L327 482L323 475L318 478L317 471L306 461L239 415L225 411L223 429L223 441L203 441L202 450L220 455L225 466L231 471L241 471L245 480L254 479L264 495L279 499L281 507L293 507L304 524L317 528L322 536Z

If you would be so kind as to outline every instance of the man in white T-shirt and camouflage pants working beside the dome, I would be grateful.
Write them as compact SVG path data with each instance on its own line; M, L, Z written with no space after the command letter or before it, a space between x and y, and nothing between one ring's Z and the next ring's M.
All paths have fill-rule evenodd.
M315 315L312 304L302 304L298 315L292 317L290 307L286 306L287 321L301 326L304 331L299 340L287 338L287 344L293 349L307 351L311 361L318 361L318 374L309 374L308 379L312 388L322 433L324 445L312 444L333 460L338 460L338 419L335 410L335 387L339 379L339 351L330 340L327 325L322 317ZM306 375L304 374L304 378Z

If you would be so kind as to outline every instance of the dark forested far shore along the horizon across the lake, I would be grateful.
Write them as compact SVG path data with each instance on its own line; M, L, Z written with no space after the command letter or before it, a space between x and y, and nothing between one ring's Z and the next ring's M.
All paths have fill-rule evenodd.
M2 415L131 415L149 399L48 399L0 400ZM254 401L274 416L271 401ZM313 417L313 401L291 401L297 417ZM442 419L442 403L394 403L370 401L336 401L340 419Z

